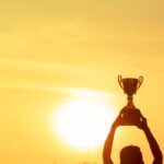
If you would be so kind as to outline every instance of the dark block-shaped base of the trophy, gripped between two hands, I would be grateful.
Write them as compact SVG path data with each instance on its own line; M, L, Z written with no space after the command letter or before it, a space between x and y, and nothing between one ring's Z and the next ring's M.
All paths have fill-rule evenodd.
M121 114L121 126L136 126L140 124L140 110L137 108L124 108Z

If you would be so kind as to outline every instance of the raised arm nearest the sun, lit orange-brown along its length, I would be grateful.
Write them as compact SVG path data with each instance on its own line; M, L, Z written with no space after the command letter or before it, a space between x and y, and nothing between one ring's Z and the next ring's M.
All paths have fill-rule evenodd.
M113 141L114 141L116 128L120 125L120 119L121 119L121 116L119 114L119 116L116 118L116 120L112 125L110 131L109 131L107 139L105 141L104 150L103 150L103 162L104 162L104 164L113 164L113 161L112 161Z

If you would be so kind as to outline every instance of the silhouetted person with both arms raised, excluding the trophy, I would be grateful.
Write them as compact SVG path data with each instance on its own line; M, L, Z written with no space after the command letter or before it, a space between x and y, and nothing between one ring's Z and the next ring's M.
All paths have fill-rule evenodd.
M116 128L118 126L121 126L121 119L122 119L121 114L122 114L122 110L120 112L120 114L118 115L114 124L112 125L110 131L105 141L104 150L103 150L104 164L113 164L112 156L110 156L113 140L114 140ZM141 113L140 113L140 118L141 118L140 122L138 122L134 126L143 130L147 137L151 152L154 157L153 164L162 164L163 156L162 156L160 147L155 138L153 137L152 132L150 131L150 128L148 127L147 119L142 116ZM128 145L128 147L122 148L122 150L120 151L120 164L144 164L140 148L136 145Z

